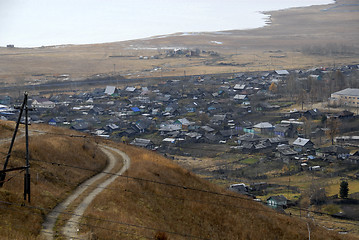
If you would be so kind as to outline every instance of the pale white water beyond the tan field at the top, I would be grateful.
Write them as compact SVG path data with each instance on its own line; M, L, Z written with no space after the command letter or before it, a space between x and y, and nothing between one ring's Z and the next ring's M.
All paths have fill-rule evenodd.
M0 46L39 47L258 28L262 11L332 0L0 0Z

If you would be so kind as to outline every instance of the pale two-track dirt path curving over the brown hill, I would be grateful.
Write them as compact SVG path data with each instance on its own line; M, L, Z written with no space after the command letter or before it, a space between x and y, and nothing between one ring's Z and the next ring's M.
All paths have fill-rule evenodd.
M47 216L45 219L45 222L43 223L43 230L41 232L41 235L45 239L54 239L54 227L55 223L60 215L61 212L64 212L66 208L74 202L85 190L87 190L92 184L94 184L98 180L102 180L100 184L94 188L93 191L91 191L77 206L77 208L74 211L71 211L70 214L72 217L66 222L65 227L62 230L62 233L66 236L66 238L76 238L78 239L78 229L79 229L79 221L85 212L86 208L89 206L89 204L95 199L97 194L101 193L105 187L107 187L110 183L112 183L118 175L123 174L129 167L130 167L130 158L122 151L108 147L108 146L101 146L101 150L108 156L108 165L106 169L104 169L104 172L110 172L115 166L116 163L119 161L119 157L115 156L112 152L115 152L123 159L123 167L120 171L116 173L116 175L111 176L110 178L105 179L108 174L105 173L99 173L95 175L94 177L88 179L84 183L82 183L80 186L78 186L75 191L62 203L57 205Z

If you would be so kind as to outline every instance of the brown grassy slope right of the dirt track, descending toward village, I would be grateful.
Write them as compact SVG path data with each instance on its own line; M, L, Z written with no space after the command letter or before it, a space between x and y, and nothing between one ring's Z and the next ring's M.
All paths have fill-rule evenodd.
M131 146L121 148L132 159L127 176L231 194L199 179L156 153ZM86 212L89 217L85 218L86 223L96 227L87 226L83 231L90 231L92 236L99 239L153 238L158 231L153 229L167 232L170 239L187 238L169 232L197 236L200 239L308 237L304 219L278 214L242 197L232 198L125 177L120 177L110 188L111 190L105 190L97 197ZM102 219L110 219L116 223ZM312 223L310 227L312 239L344 239Z

